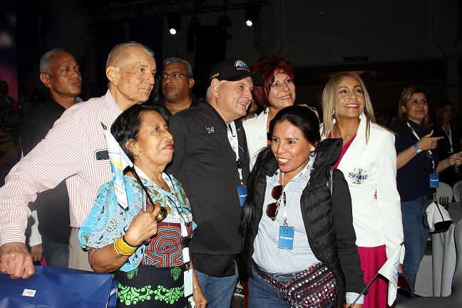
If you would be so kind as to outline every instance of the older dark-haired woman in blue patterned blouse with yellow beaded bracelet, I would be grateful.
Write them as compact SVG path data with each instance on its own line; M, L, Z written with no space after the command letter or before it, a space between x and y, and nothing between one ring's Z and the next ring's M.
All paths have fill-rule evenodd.
M98 189L93 208L78 235L89 249L96 272L114 272L119 281L117 307L186 307L188 279L197 307L207 301L188 263L188 240L193 222L190 204L173 176L163 173L173 158L173 137L167 117L157 107L135 105L120 114L111 133L133 161L135 173L147 188L155 207L143 212L142 187L133 170L125 173L128 207L118 205L113 182ZM155 217L165 207L162 222ZM184 278L189 277L189 278ZM183 280L185 279L185 280Z

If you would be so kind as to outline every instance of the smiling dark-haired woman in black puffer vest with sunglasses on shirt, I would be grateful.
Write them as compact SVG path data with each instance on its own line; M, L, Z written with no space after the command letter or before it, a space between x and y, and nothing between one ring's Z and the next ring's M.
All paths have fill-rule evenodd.
M245 235L242 272L251 278L249 308L291 307L277 283L270 281L287 284L293 273L319 262L337 285L312 294L310 307L331 307L325 306L329 302L332 307L347 302L349 307L366 286L354 243L348 185L339 170L332 173L342 142L319 142L319 120L302 106L279 111L270 133L271 147L260 152L250 173L240 229ZM292 235L285 235L291 229ZM292 242L285 242L287 237ZM335 298L327 299L333 290ZM327 301L321 306L320 299ZM362 307L360 303L353 307Z

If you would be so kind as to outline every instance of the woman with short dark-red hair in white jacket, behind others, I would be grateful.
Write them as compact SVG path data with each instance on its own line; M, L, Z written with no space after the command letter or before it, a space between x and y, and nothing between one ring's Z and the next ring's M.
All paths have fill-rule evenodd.
M259 73L265 79L263 86L255 86L252 96L265 111L260 116L243 122L247 138L247 148L250 154L250 168L252 169L258 153L269 145L267 136L270 120L282 108L294 105L295 85L294 70L290 61L279 56L260 58L252 66L252 73Z

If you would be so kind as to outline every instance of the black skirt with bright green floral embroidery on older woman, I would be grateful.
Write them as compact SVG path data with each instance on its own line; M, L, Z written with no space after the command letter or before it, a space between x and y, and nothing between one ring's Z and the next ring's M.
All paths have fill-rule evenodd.
M117 307L185 308L183 272L185 266L154 267L140 265L131 272L117 271Z

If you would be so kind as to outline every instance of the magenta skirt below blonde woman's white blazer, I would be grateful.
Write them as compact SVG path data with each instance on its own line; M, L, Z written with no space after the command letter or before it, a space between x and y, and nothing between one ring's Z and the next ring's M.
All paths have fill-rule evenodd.
M386 262L385 245L378 247L358 247L361 259L361 270L364 271L364 282L369 284L380 267ZM363 308L386 308L386 294L388 293L388 281L379 275L369 287L369 292L364 297Z

